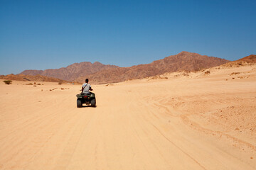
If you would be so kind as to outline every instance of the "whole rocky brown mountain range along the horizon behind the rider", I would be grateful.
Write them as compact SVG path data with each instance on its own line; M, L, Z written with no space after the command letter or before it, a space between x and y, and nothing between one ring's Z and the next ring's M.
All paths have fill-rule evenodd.
M193 52L180 52L178 55L171 55L162 60L151 62L150 64L139 64L132 67L105 65L100 62L93 64L91 62L80 62L60 69L25 70L21 74L39 74L46 77L78 82L84 82L88 78L92 84L105 84L129 79L143 79L166 72L194 71L215 67L227 62L230 61L218 57L199 55Z

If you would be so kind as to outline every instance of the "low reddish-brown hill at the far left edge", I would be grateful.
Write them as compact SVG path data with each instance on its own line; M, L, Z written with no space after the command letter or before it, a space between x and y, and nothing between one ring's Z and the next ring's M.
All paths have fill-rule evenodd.
M24 74L8 74L6 76L0 75L0 79L7 79L7 80L16 80L16 81L47 81L47 82L61 82L65 83L68 81L61 80L61 79L55 79L50 77L45 77L42 75L24 75Z

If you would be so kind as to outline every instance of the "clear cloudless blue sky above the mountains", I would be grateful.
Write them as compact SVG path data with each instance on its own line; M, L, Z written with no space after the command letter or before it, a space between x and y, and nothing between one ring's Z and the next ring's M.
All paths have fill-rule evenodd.
M256 54L255 9L255 0L0 0L0 74L129 67L181 51L238 60Z

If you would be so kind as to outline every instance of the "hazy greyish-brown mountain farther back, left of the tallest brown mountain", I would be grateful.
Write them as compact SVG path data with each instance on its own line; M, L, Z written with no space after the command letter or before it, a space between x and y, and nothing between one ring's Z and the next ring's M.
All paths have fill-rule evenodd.
M58 79L63 79L66 81L74 81L78 77L86 77L89 74L93 74L95 72L100 72L105 69L119 68L114 65L105 65L100 62L80 62L71 64L68 67L62 67L60 69L46 69L46 70L34 70L28 69L21 74L25 75L43 75L46 77L54 77Z

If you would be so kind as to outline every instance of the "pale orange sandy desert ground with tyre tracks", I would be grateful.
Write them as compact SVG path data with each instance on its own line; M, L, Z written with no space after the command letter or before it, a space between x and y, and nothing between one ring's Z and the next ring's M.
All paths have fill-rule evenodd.
M256 169L256 66L206 71L92 85L97 108L1 81L0 169Z

